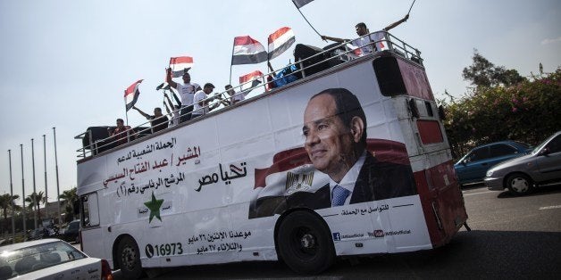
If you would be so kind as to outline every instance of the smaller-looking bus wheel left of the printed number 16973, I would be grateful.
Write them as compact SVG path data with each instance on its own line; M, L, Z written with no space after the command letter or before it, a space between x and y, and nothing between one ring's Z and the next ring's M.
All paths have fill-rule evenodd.
M131 237L121 239L117 249L117 261L125 279L138 279L142 274L140 251L138 245Z

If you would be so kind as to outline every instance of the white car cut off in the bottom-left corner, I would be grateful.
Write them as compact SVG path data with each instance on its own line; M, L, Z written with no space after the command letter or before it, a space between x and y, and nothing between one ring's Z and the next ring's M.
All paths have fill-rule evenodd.
M90 258L59 239L41 239L0 247L0 279L107 279L105 259Z

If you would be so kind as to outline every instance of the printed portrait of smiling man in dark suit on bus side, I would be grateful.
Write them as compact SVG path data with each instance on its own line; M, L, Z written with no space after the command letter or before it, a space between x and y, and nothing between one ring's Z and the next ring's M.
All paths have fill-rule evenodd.
M314 169L328 175L330 182L315 192L259 198L250 207L249 217L416 194L409 164L379 161L366 150L366 127L361 104L346 88L329 88L312 96L304 111L304 149Z

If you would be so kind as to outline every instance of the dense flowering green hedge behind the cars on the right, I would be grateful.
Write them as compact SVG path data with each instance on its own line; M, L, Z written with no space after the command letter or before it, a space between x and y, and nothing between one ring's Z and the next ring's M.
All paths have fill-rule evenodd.
M513 86L477 87L460 99L440 101L455 157L479 144L517 140L539 144L561 128L561 68Z

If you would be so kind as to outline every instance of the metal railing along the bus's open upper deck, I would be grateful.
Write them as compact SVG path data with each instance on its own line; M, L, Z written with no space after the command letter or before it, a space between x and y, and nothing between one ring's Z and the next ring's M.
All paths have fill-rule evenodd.
M373 50L376 50L377 48L374 47L375 45L383 44L384 46L382 48L382 51L378 50L366 54L364 53L360 54L361 52L358 51L360 48L351 45L351 43L354 41L352 40L341 44L328 45L323 49L316 50L315 54L311 54L306 57L296 57L295 54L296 59L294 63L291 63L280 70L273 70L272 72L264 74L264 76L260 78L261 83L259 85L251 87L253 81L248 81L246 83L234 87L234 90L236 91L235 95L230 96L228 95L227 91L216 93L213 96L207 97L207 99L210 98L212 100L211 101L212 103L209 102L207 106L215 106L216 102L222 102L222 101L227 102L230 98L233 98L236 95L247 95L250 91L259 90L260 88L262 88L264 92L274 93L275 88L280 87L275 85L279 84L279 82L282 81L284 78L287 78L287 76L294 76L294 78L297 79L306 78L307 76L314 75L316 72L318 72L317 71L318 68L321 70L326 70L328 68L338 66L339 64L346 64L349 62L353 62L363 57L378 55L381 52L390 52L393 54L397 54L398 56L402 56L403 58L410 60L412 62L421 65L423 64L423 59L421 58L421 52L416 48L414 48L413 46L406 44L406 42L400 40L398 37L394 37L386 31L373 32L371 34L364 35L363 37L371 38L372 36L379 37L381 39L373 40L370 44L364 46L368 46L371 47ZM359 38L361 37L358 37L355 40ZM378 47L378 49L380 48ZM297 70L291 71L288 74L285 73L286 74L285 76L280 75L280 72L282 72L283 70L288 70L291 68L294 69L295 67ZM247 86L249 87L246 88ZM241 103L245 103L245 102L242 101ZM238 104L234 104L233 106L238 106ZM222 111L223 109L224 107L218 107L216 110L210 111L207 114L212 115L214 113ZM189 119L188 121L179 123L180 110L172 111L169 114L163 115L163 117L161 118L165 118L165 117L168 117L170 119L170 124L174 123L174 121L177 119L178 124L172 126L172 128L185 126L193 121L197 121L197 119L204 119L198 117L197 119ZM80 139L82 141L82 147L76 150L76 152L79 152L78 158L85 159L90 156L96 155L99 152L105 152L107 150L117 149L120 146L122 146L124 142L138 143L139 141L142 141L141 139L144 136L153 134L153 130L150 127L151 121L153 120L149 120L147 122L140 124L138 127L131 128L125 132L122 132L121 133L122 135L119 134L116 136L108 136L108 137L104 136L103 138L96 136L94 128L88 128L86 132L81 133L80 135L74 137L75 139ZM106 130L107 128L113 128L113 127L96 127L98 132L103 131L103 129ZM163 129L162 131L157 131L155 132L155 134L165 133L165 131L169 131L172 128L169 127ZM102 132L101 134L104 133Z

